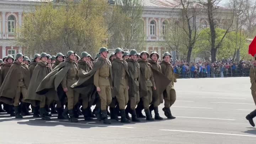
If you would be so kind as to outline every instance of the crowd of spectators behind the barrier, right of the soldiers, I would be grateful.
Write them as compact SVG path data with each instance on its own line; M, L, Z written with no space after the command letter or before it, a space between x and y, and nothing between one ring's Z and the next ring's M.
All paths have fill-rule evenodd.
M224 78L235 76L249 76L252 61L232 62L232 60L222 60L221 62L184 62L176 60L172 63L174 73L180 78Z

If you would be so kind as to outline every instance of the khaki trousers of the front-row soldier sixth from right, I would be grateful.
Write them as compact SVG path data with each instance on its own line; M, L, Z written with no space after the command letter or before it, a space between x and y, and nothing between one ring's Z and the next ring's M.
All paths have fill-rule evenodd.
M101 92L98 92L101 100L101 110L106 110L112 101L111 86L100 86Z

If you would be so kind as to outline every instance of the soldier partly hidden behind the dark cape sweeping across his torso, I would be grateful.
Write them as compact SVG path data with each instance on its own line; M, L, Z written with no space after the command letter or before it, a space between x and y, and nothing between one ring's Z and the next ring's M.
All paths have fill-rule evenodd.
M89 73L89 71L92 70L92 66L88 62L89 54L87 52L82 52L81 57L81 60L78 61L78 68L84 70L86 73ZM90 96L84 94L80 94L80 96L82 98L82 114L84 114L84 119L85 121L91 121L91 111L90 107L88 107Z

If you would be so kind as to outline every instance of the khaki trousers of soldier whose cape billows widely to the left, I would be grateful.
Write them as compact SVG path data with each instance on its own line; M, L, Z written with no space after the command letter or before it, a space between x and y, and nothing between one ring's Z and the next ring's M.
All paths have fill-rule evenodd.
M68 87L68 92L66 92L66 95L68 97L68 110L71 110L78 102L79 93L71 89L71 87Z

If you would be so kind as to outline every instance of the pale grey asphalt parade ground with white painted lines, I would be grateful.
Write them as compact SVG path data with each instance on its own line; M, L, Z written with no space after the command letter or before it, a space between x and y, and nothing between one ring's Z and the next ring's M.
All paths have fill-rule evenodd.
M162 103L163 121L105 125L83 116L71 123L0 113L0 144L255 144L256 129L245 119L255 109L250 85L248 77L178 79L176 119L164 116Z

